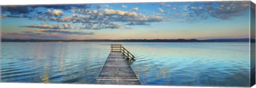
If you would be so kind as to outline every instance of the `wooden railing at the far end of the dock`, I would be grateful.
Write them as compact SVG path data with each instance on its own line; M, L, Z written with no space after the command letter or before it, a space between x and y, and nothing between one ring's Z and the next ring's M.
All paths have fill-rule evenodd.
M119 50L120 52L122 52L124 54L124 56L126 57L126 59L133 59L135 60L134 55L129 52L128 50L126 50L121 44L111 44L111 51L113 50Z

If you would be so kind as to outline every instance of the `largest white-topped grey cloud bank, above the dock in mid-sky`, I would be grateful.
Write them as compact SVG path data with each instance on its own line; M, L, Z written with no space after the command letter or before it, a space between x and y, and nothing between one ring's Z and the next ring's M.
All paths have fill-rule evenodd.
M104 15L104 16L101 16ZM162 15L162 14L161 14ZM107 25L109 22L158 22L164 21L162 17L151 15L147 17L143 14L137 14L136 12L127 12L121 10L105 9L103 13L91 14L91 15L77 15L73 14L70 17L63 18L50 18L50 20L58 22L72 22L72 23L83 23L84 25L90 26L92 24ZM86 28L86 27L85 27ZM91 28L91 27L89 27Z

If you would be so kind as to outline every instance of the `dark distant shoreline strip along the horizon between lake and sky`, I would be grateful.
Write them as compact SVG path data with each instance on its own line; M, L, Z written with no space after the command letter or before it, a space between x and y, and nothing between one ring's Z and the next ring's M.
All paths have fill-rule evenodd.
M250 42L250 38L222 38L222 39L1 39L1 42ZM255 39L251 39L255 42Z

